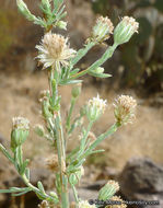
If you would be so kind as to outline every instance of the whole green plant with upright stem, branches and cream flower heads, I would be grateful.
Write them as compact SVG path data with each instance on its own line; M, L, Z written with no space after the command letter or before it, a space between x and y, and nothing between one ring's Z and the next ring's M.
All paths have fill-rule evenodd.
M115 123L104 134L95 137L90 136L94 123L101 117L107 107L107 102L97 95L81 107L79 115L72 119L72 113L77 100L81 93L82 76L90 74L97 78L108 78L110 74L104 73L102 65L113 56L115 49L130 39L138 31L138 23L135 19L125 16L114 31L113 23L108 18L98 18L92 30L91 36L80 50L74 50L69 45L69 39L62 35L54 34L54 27L66 30L67 23L62 21L66 16L63 0L42 0L40 10L43 16L35 16L31 13L23 0L18 0L20 12L34 24L38 24L45 30L45 35L40 44L36 46L38 56L36 59L47 71L49 89L42 92L40 105L42 116L45 122L45 128L40 125L35 126L35 132L49 141L54 147L54 155L47 160L47 166L56 174L56 189L46 192L42 182L37 185L31 184L28 160L23 158L22 146L27 139L30 132L30 122L23 117L13 118L11 131L11 150L7 150L0 145L1 152L15 166L18 173L24 181L24 187L11 187L1 189L0 193L11 193L13 196L24 195L34 192L43 200L39 207L60 207L69 208L69 188L72 188L77 208L94 208L98 205L91 205L78 196L75 186L84 174L83 163L85 159L94 153L103 152L96 150L96 147L110 137L121 125L130 123L135 117L136 101L127 95L119 96L114 104ZM110 35L114 35L114 44L108 46L104 55L93 62L85 70L75 68L80 59L95 45L103 43ZM58 94L60 85L73 84L71 93L70 108L66 120L61 119L60 102ZM83 119L88 119L85 127ZM81 130L80 143L69 154L67 154L67 143L73 130ZM119 189L116 182L109 181L98 194L100 200L114 199L115 193ZM120 207L126 207L123 205Z

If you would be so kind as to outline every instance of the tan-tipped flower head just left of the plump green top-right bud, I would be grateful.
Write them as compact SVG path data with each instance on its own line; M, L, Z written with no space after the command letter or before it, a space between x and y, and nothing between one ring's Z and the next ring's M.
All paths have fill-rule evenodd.
M96 42L103 42L113 33L114 26L110 20L106 16L100 16L96 20L96 25L93 27L92 38Z

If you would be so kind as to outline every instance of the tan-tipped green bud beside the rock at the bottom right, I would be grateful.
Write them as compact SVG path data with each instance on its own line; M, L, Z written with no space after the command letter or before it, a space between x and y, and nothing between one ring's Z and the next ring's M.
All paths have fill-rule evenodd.
M108 181L105 186L100 189L98 199L108 200L110 199L116 192L119 190L119 184L115 181Z

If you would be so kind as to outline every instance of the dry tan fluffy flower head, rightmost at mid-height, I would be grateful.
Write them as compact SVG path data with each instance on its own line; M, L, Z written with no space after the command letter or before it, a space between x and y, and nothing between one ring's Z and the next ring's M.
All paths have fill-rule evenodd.
M115 108L115 117L120 125L131 123L135 118L137 101L132 96L121 95L115 100L113 104Z

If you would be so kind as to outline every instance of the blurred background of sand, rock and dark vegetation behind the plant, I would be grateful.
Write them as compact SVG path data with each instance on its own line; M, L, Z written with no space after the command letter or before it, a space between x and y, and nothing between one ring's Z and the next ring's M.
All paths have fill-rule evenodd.
M39 0L25 2L33 13L39 14ZM163 201L163 0L66 0L66 4L68 32L63 35L69 35L75 49L83 46L97 15L107 15L114 25L124 15L131 15L140 23L139 34L118 47L113 58L104 65L112 78L84 78L77 112L97 92L108 100L106 114L94 126L95 135L102 134L114 123L112 103L117 95L132 95L139 105L135 123L119 129L112 140L104 141L101 145L106 150L103 154L89 158L81 185L95 196L95 187L100 187L103 181L114 178L119 181L119 195L125 199ZM53 148L33 132L33 126L42 123L39 91L48 88L46 71L42 71L34 59L37 55L35 45L43 34L39 26L27 22L18 12L15 1L0 1L0 141L10 147L11 118L19 115L27 117L31 135L24 152L31 159L32 182L42 180L50 189L55 180L53 173L46 170L46 158L53 153ZM112 43L110 38L107 44ZM94 47L79 67L86 68L105 49L106 45ZM61 88L60 93L62 111L66 112L71 86ZM69 141L68 150L77 142L78 134ZM0 154L0 188L10 186L23 186L23 183L13 166ZM0 207L3 208L35 208L37 203L32 194L16 199L0 195ZM162 208L163 205L158 207Z

